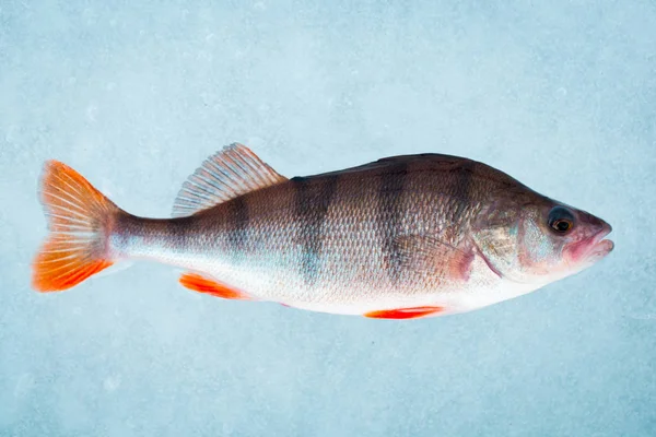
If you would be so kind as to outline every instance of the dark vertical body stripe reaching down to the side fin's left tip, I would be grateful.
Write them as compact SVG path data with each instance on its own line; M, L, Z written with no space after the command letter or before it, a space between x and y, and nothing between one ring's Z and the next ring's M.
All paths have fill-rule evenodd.
M380 244L384 264L393 282L399 280L401 273L401 252L395 243L400 234L403 220L403 187L408 177L408 164L399 163L380 175L378 188L378 229L380 229Z

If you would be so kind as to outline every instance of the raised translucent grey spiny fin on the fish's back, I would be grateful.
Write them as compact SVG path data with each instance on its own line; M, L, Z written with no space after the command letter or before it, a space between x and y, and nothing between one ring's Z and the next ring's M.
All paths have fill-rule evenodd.
M173 216L192 215L285 180L248 147L234 143L208 157L189 176L175 199Z

